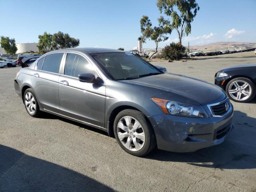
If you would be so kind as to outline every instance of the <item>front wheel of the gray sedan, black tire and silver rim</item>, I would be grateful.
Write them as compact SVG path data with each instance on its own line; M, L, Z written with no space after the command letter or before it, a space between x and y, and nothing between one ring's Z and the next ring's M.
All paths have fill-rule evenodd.
M126 120L130 122L130 126L127 126ZM122 127L122 125L124 126ZM134 126L138 128L133 130ZM146 119L146 116L137 110L127 109L117 114L114 120L114 135L120 147L134 156L144 156L151 152L156 145L156 138L151 124ZM128 146L129 148L127 148Z

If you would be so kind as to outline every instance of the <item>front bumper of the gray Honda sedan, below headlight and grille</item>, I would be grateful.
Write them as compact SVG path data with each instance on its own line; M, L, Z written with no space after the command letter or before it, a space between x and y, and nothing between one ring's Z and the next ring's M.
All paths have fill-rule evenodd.
M148 117L156 134L158 149L194 152L224 142L234 128L232 110L224 117L192 118L161 114Z

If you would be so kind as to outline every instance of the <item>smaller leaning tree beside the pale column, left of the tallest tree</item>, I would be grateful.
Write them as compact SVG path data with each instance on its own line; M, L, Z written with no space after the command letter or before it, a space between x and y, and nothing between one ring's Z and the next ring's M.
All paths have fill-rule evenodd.
M168 39L168 37L164 35L171 34L172 32L170 21L165 20L162 16L158 18L158 26L154 26L154 28L152 27L152 23L148 16L142 16L140 19L140 30L142 33L142 42L146 42L146 39L150 39L156 43L156 51L150 58L157 53L158 43Z

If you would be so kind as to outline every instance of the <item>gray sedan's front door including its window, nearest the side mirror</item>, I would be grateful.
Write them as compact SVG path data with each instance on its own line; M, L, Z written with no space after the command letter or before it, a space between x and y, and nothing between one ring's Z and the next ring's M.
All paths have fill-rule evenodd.
M90 61L81 54L67 53L59 78L60 114L89 125L104 127L106 86L80 82L79 74L99 77Z

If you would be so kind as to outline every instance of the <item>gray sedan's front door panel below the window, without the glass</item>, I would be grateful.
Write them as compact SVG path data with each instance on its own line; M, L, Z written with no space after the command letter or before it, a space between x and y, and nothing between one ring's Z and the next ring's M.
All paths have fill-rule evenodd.
M106 86L80 82L78 78L64 75L59 82L62 80L69 85L59 83L60 113L104 127Z

